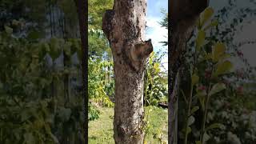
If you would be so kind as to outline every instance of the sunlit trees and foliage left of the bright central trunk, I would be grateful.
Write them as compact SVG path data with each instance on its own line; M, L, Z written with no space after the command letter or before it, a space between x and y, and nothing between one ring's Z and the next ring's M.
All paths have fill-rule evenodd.
M113 106L114 78L109 42L102 31L102 14L113 0L88 1L88 93L89 120L99 117L97 106Z

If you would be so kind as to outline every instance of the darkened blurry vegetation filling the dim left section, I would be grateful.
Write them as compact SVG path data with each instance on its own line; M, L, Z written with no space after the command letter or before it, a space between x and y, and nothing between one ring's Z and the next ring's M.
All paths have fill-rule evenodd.
M73 1L1 1L0 19L0 143L84 142Z

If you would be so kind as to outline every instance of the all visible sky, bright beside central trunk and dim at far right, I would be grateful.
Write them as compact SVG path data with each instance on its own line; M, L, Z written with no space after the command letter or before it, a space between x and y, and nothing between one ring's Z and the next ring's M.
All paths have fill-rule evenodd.
M250 0L237 0L237 5L239 7L246 7L246 6L254 6L251 5ZM228 1L223 1L223 0L211 0L210 1L210 6L214 8L215 11L219 10L223 6L226 6L228 4ZM168 50L167 46L162 46L162 41L167 40L167 34L168 30L165 28L161 27L158 22L162 21L163 14L161 13L161 10L165 9L168 11L168 0L147 0L147 13L146 13L146 26L149 26L149 28L146 29L146 39L151 38L154 46L154 51L161 50L162 52L166 52ZM233 18L230 18L233 19ZM255 18L252 18L253 22L252 23L246 23L243 22L242 25L245 26L245 28L238 33L235 36L235 41L239 42L245 37L246 39L255 39L255 34L256 34L256 20ZM247 26L248 25L248 26ZM255 61L255 45L250 45L250 46L243 46L240 48L242 52L244 53L245 58L248 59L250 64L252 66L256 66L256 61ZM164 66L164 70L168 70L168 58L167 54L166 57L162 59L162 64ZM238 62L236 60L236 65L235 67L242 66L242 62Z

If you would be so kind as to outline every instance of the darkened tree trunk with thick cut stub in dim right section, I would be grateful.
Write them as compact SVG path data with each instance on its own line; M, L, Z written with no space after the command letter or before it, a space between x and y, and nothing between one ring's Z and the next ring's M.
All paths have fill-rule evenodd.
M168 50L168 142L178 142L178 88L182 55L193 32L199 14L208 6L208 0L170 1L170 49Z

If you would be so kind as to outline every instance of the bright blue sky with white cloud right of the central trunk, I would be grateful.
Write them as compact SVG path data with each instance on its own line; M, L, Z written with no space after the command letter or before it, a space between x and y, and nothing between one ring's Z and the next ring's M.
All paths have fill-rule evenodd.
M164 15L161 10L168 11L168 0L147 0L147 11L146 11L146 39L151 39L154 46L154 51L161 50L167 52L167 46L162 46L162 41L167 41L168 30L162 27L159 22L162 21ZM162 59L164 69L168 70L168 55Z

